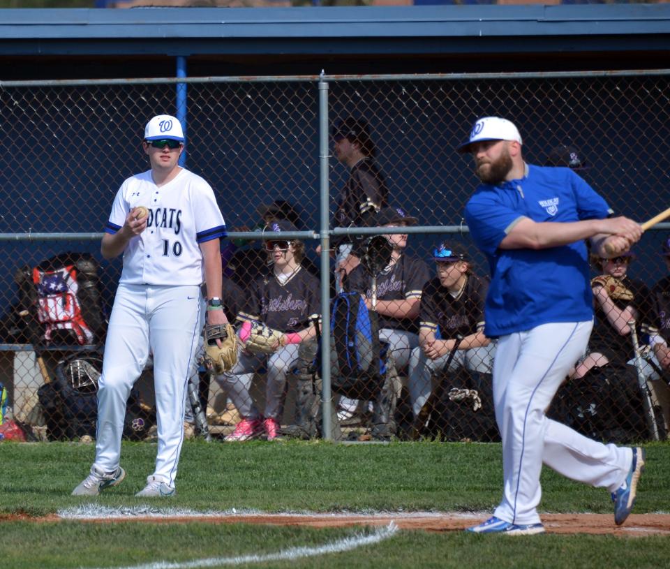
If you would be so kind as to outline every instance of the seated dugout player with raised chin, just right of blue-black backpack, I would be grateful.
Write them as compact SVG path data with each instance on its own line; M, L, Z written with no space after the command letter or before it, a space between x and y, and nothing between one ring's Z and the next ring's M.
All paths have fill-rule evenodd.
M376 223L380 227L406 227L417 223L401 207L384 207ZM419 345L417 316L424 284L429 279L428 265L419 258L405 255L407 234L386 236L393 246L391 262L377 274L377 304L379 313L379 337L389 344L396 369L404 369L410 353ZM362 265L358 265L345 281L350 291L358 291L365 298L368 309L372 308L372 281Z

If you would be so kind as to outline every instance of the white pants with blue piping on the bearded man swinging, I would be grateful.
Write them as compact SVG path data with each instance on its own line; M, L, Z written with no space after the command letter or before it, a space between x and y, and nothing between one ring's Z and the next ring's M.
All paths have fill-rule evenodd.
M593 320L544 324L500 337L493 399L502 437L505 486L496 517L537 524L542 463L572 480L613 492L632 461L630 448L592 441L544 415L569 369L583 355Z

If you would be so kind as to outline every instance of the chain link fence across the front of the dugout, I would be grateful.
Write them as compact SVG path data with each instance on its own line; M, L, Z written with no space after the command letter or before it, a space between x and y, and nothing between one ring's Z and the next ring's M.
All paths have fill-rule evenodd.
M378 303L385 369L357 391L342 386L338 378L343 374L333 361L334 405L325 423L332 424L336 438L498 438L491 395L495 341L481 338L480 346L454 349L456 334L477 334L485 318L478 299L486 290L488 267L462 219L477 180L471 158L455 152L477 117L497 114L514 121L529 163L545 164L553 149L572 147L579 173L616 212L643 221L667 205L670 71L181 82L188 93L186 167L211 184L233 232L222 243L224 303L231 319L264 321L263 302L294 302L299 315L286 320L281 332L296 332L313 326L309 316L331 314L332 306L321 306L316 239L324 158L320 82L322 88L327 83L327 124L346 119L366 124L375 146L373 163L386 186L382 202L417 220L406 236L389 230L398 247L375 286L364 267L348 267L352 272L345 283L363 290L368 304L373 297ZM8 394L5 416L27 425L29 435L38 438L94 437L96 382L121 272L120 258L101 258L101 230L121 182L149 168L141 145L144 125L155 114L175 114L175 82L13 82L2 87L0 383ZM334 219L351 172L344 154L329 142L327 207ZM314 239L267 239L268 223L278 219L313 231ZM589 355L549 410L589 436L613 441L666 437L667 350L654 339L656 328L668 331L663 327L667 317L655 302L670 294L661 281L668 271L662 256L666 239L667 226L661 224L644 235L634 258L609 264L594 260L594 277L614 274L628 291L614 304L619 320L635 318L639 349L633 348L630 327L613 323L616 318L599 308ZM462 251L468 260L463 265L468 302L457 302L458 290L456 302L449 295L445 263L434 261L440 244ZM300 271L280 282L274 273L285 267L286 246L291 256L304 258ZM338 253L334 249L332 257ZM300 273L301 285L294 286ZM334 275L329 276L332 297ZM652 291L659 281L661 288ZM598 295L594 298L600 307ZM254 302L260 303L258 310ZM332 334L332 345L338 334ZM435 334L442 334L443 341L433 344ZM649 345L650 337L657 346ZM228 377L212 376L201 360L193 369L185 428L193 422L196 433L233 440L324 436L320 371L312 365L316 343L288 344L270 355L244 353L244 366ZM153 436L151 382L148 364L128 405L126 434L131 438ZM422 408L432 412L422 414Z

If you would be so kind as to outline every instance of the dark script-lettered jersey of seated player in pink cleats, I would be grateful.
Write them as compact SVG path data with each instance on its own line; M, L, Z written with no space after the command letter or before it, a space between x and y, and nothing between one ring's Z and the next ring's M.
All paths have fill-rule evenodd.
M270 272L251 286L240 319L262 322L280 332L299 332L319 318L320 300L319 281L302 267L283 284Z

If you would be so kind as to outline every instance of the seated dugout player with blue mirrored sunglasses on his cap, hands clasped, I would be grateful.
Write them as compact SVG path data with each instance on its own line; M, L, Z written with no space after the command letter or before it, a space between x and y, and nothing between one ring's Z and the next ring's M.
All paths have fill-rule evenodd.
M442 371L456 337L463 339L447 371L466 367L491 373L494 345L484 336L488 279L472 274L466 250L440 244L433 251L437 276L424 286L419 313L419 347L410 358L409 391L415 417L431 394L431 376Z

